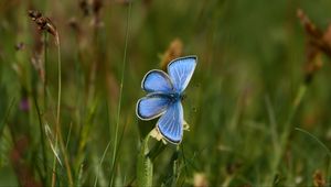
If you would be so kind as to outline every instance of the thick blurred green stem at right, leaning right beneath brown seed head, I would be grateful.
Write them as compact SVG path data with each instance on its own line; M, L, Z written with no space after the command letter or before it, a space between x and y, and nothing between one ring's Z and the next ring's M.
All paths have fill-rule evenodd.
M289 116L286 120L286 123L285 123L285 129L282 131L282 134L280 136L280 147L278 150L278 152L276 153L275 155L275 162L273 164L273 167L271 167L271 184L274 182L274 177L276 176L277 174L277 170L278 170L278 167L279 167L279 163L281 161L281 157L286 151L286 146L288 144L288 140L289 140L289 135L290 135L290 132L291 132L291 129L292 129L292 120L293 120L293 117L295 114L297 113L298 111L298 107L300 106L301 101L302 101L302 98L307 91L307 87L308 85L306 84L302 84L300 87L299 87L299 90L297 92L297 96L293 100L293 103L291 106L291 109L290 109L290 112L289 112Z

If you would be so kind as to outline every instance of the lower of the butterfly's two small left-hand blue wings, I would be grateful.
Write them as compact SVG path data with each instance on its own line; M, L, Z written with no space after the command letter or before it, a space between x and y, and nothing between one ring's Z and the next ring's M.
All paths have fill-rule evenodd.
M136 112L141 120L151 120L164 113L170 103L167 95L149 94L138 100Z

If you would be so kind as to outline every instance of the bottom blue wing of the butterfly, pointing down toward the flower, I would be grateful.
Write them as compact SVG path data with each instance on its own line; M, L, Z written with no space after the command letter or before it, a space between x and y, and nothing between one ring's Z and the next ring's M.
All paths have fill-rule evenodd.
M180 101L171 103L159 119L157 128L169 142L178 144L183 138L183 107Z

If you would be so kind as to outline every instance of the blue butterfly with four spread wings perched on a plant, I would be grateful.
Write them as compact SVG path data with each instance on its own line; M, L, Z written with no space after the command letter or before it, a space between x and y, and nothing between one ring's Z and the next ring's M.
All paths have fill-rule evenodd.
M173 59L168 65L168 74L153 69L148 72L141 81L141 88L147 96L137 102L138 118L152 120L161 117L157 130L173 144L179 144L183 138L184 113L181 100L196 62L196 56Z

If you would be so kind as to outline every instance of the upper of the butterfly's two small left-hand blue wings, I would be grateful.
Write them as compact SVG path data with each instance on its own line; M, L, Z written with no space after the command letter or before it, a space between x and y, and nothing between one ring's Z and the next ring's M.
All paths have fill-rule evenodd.
M150 70L146 74L141 81L141 88L147 92L172 92L173 85L168 76L162 70Z

